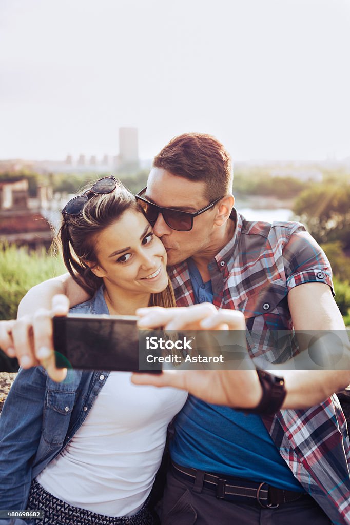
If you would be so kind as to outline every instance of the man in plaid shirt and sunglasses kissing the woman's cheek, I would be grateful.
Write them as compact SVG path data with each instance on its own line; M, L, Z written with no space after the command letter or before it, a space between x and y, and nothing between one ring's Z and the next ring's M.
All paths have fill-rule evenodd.
M320 247L298 223L246 221L233 208L231 186L230 155L209 135L181 135L153 162L138 198L166 246L178 306L242 311L251 355L270 361L291 357L275 348L273 330L344 330ZM55 293L71 304L86 299L73 281L56 279L32 290L19 315L48 306ZM22 348L22 364L35 364ZM174 422L164 524L350 523L344 417L336 398L313 406L314 392L325 399L346 386L348 373L318 373L315 382L310 373L288 375L280 406L311 408L260 417L189 397ZM259 407L261 395L250 406Z

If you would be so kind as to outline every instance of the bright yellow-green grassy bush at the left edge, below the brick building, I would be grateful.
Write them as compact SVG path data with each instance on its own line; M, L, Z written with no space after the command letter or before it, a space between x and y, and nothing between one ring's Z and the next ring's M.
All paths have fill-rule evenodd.
M0 243L0 319L16 318L18 303L29 288L64 272L60 257L47 255L45 248L28 252Z

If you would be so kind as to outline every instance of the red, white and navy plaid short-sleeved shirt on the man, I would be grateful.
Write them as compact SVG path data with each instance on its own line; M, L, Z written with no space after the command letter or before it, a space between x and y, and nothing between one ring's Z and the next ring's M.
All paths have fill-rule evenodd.
M291 345L276 348L273 330L292 330L287 293L305 282L325 282L333 292L330 264L304 226L249 222L233 210L235 231L208 268L213 303L241 310L252 357L285 362ZM170 268L178 306L194 304L187 262ZM333 523L350 524L350 442L336 395L303 410L263 417L273 442L296 479Z

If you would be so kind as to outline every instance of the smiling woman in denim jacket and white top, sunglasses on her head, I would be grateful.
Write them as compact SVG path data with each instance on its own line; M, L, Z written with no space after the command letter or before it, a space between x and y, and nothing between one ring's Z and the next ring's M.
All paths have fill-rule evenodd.
M135 197L114 177L69 201L59 230L66 267L94 297L74 313L175 306L167 255ZM102 351L102 350L101 350ZM1 509L43 510L42 523L153 523L148 499L186 392L131 373L20 370L0 421Z

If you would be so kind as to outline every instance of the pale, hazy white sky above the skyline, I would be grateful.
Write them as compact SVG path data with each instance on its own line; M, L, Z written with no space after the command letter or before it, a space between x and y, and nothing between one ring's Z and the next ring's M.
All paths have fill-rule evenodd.
M0 159L152 158L186 131L236 160L350 155L350 0L0 0Z

